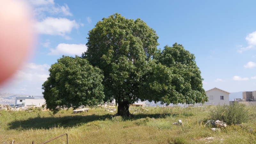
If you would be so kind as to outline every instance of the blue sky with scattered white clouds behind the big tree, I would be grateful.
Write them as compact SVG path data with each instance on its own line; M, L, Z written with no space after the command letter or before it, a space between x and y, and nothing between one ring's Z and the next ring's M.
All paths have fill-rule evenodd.
M34 54L0 92L42 95L48 69L62 55L86 51L88 31L120 13L140 18L159 36L158 48L182 44L195 54L204 89L256 90L256 1L30 0L38 34Z

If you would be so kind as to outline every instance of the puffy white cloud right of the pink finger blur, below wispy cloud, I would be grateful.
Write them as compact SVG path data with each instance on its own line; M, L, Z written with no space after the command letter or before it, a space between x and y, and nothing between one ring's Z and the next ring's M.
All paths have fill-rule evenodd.
M36 29L40 34L66 36L73 28L79 28L79 24L75 20L66 18L47 17L43 21L36 23Z

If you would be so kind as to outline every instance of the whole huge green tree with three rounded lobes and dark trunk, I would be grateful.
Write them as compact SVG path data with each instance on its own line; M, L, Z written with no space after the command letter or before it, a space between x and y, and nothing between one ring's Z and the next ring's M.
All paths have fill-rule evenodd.
M50 109L116 99L117 114L129 116L129 104L139 99L207 101L194 54L177 43L158 50L158 36L143 20L116 13L97 22L88 35L81 58L63 56L49 69L43 94Z

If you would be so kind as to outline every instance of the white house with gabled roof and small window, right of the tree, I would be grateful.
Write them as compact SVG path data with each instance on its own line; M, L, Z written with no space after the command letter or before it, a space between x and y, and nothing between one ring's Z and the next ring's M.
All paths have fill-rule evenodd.
M217 87L212 88L208 91L205 91L208 102L205 102L206 105L229 105L229 94L230 92L226 92L224 90L221 90Z

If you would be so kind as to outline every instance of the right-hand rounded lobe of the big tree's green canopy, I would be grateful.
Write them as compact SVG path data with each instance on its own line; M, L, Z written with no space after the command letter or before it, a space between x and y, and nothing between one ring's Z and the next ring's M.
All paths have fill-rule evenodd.
M160 101L167 105L207 101L195 56L181 44L165 46L153 60L141 87L141 100Z

